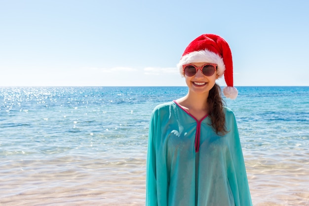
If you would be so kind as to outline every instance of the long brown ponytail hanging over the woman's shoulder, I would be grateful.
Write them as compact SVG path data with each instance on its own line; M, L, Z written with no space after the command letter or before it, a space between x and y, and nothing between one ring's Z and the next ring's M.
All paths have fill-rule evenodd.
M207 102L210 111L210 125L212 125L218 135L223 136L227 134L229 131L225 125L225 113L223 110L225 102L221 97L221 88L217 83L209 90Z

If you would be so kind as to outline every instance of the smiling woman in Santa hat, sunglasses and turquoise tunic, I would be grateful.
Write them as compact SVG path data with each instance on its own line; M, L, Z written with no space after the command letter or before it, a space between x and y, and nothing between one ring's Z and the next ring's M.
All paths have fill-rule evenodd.
M252 206L235 117L224 95L236 98L232 53L205 34L186 48L178 68L189 87L152 114L147 157L147 206Z

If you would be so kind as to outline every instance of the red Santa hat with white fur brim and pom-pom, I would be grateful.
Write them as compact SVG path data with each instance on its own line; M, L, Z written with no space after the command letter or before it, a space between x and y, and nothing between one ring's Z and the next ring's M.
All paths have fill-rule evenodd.
M223 89L224 95L231 99L237 97L238 91L233 87L232 52L227 41L214 34L203 34L197 37L187 46L177 67L182 76L185 76L182 65L199 62L217 64L219 78L224 75L227 83Z

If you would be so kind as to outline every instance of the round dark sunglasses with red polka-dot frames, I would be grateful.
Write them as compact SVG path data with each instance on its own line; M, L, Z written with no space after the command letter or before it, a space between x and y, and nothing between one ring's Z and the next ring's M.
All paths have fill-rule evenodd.
M196 67L193 64L185 64L185 65L183 65L184 73L188 77L193 77L197 73L197 70L199 70L199 69L203 73L203 75L205 75L207 77L210 77L217 70L217 64L207 63L207 64L204 64L201 67Z

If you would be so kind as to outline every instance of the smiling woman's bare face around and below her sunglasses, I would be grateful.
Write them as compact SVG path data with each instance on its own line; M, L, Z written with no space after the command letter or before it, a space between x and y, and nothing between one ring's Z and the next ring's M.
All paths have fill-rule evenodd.
M201 63L191 63L197 67L201 67L204 64L206 64L205 62L201 62ZM216 83L216 79L218 79L218 75L217 75L217 71L215 71L215 73L210 76L207 77L205 75L203 75L203 73L199 70L197 70L197 73L192 76L192 77L188 77L185 75L186 78L186 83L189 87L189 90L193 93L205 93L205 92L209 92L209 90L215 85Z

